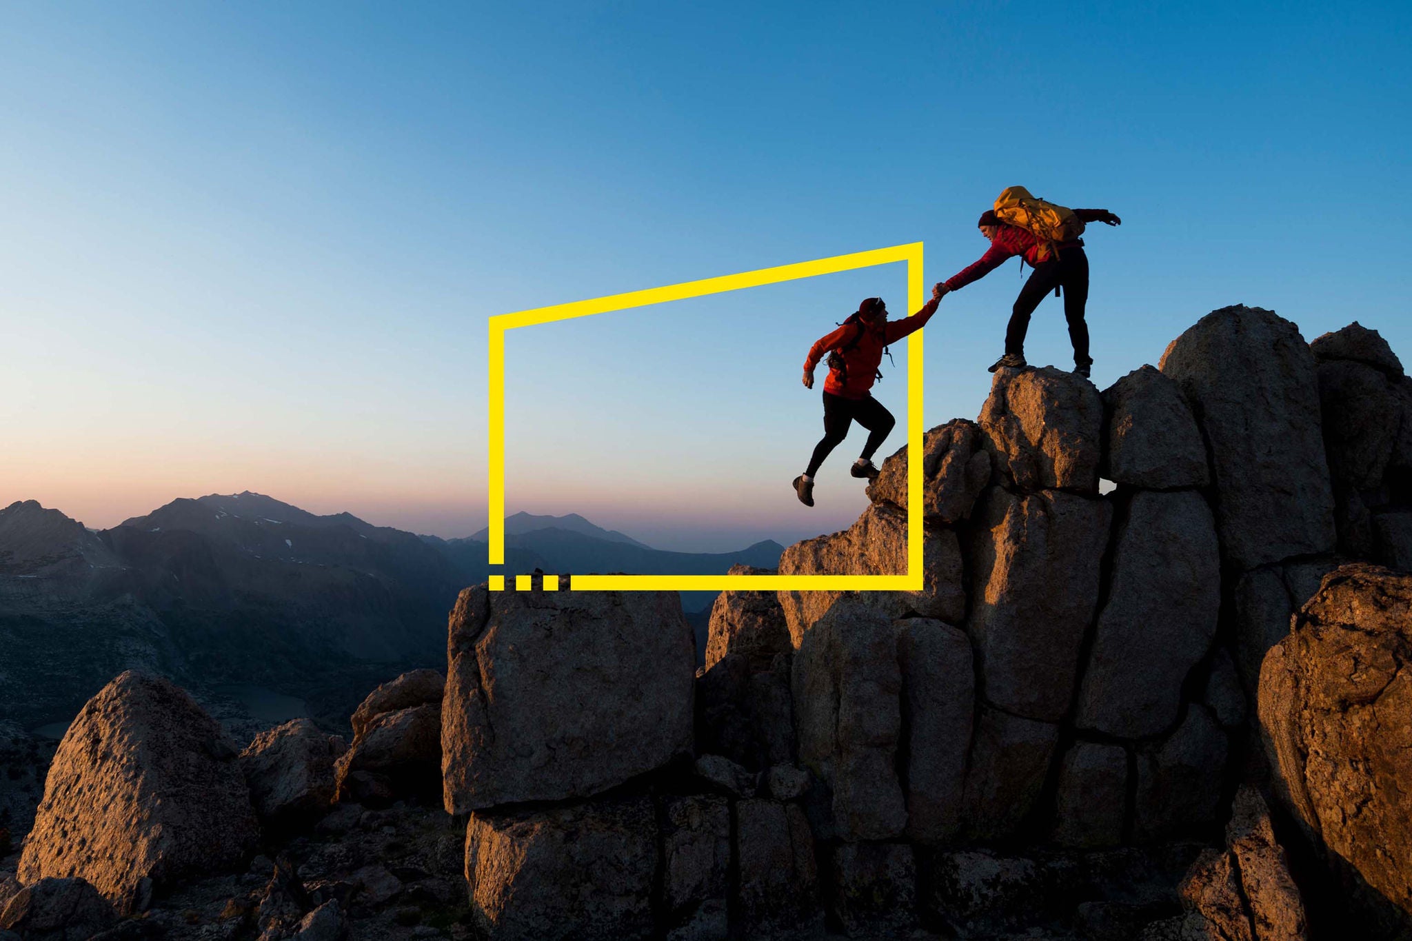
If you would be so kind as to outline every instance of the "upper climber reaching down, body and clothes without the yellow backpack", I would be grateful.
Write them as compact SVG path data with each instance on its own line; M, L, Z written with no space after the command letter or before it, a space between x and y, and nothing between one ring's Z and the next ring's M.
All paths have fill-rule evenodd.
M1073 213L1086 223L1101 221L1108 226L1123 223L1107 209L1075 209ZM990 371L994 372L1005 367L1024 368L1029 315L1035 312L1046 293L1063 288L1063 316L1069 322L1069 340L1073 343L1073 371L1087 378L1093 358L1089 357L1089 324L1083 319L1083 309L1089 302L1089 257L1083 254L1083 238L1053 245L1055 251L1049 251L1048 258L1038 261L1041 247L1046 243L1028 229L1001 221L995 217L994 210L986 210L976 224L981 234L990 240L990 248L980 257L980 261L963 268L938 286L945 286L947 291L964 288L971 281L984 278L1012 255L1019 255L1035 269L1025 286L1019 289L1019 296L1015 298L1010 326L1005 329L1005 356L995 360Z

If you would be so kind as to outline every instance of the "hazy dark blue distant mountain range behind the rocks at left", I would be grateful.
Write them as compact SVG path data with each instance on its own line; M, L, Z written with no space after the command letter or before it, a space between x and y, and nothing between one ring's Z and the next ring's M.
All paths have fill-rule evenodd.
M662 552L578 514L515 514L505 533L507 574L716 574L777 566L782 552ZM11 504L0 509L0 715L66 720L128 667L332 701L441 664L456 594L491 571L484 538L418 536L249 491L175 499L106 530ZM693 621L703 633L705 615Z

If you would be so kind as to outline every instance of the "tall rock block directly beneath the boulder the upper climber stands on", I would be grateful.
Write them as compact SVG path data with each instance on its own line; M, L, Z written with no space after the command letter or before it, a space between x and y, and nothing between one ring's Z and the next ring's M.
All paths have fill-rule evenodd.
M987 703L1025 718L1063 718L1097 607L1111 516L1108 502L1065 491L1017 495L993 487L983 498L967 545L966 629Z

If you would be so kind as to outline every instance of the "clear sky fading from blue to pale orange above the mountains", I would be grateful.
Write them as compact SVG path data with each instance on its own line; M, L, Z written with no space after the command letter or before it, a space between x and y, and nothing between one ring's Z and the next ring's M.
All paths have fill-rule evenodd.
M0 505L110 526L254 490L467 535L487 316L918 240L931 284L1014 183L1124 219L1087 240L1100 388L1228 303L1412 356L1409 25L1405 3L6 4ZM943 300L928 426L979 412L1018 289L1012 261ZM878 293L905 313L901 267L511 334L508 509L702 550L847 525L857 430L819 506L789 491L822 430L799 365ZM1027 353L1070 361L1053 299Z

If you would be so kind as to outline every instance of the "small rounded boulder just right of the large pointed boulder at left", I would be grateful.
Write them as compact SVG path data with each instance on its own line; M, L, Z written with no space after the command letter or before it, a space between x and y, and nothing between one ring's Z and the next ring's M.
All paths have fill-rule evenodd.
M347 751L342 735L312 720L291 720L256 735L240 753L250 800L265 825L312 824L333 800L333 762Z

